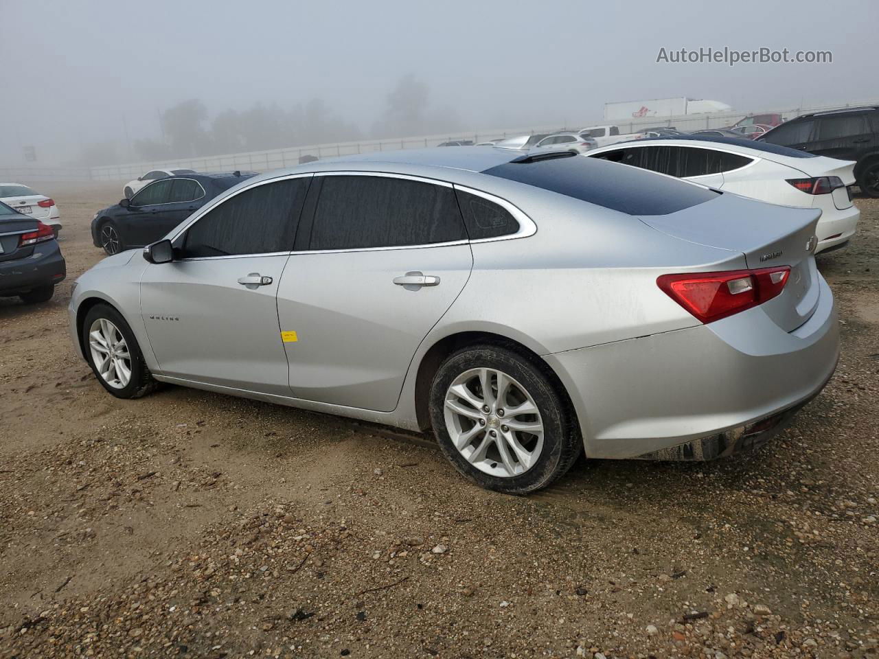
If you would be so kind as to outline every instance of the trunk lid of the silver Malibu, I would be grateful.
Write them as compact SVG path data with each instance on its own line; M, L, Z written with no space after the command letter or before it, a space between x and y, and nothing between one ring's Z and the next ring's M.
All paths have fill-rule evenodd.
M818 303L814 250L817 208L774 206L725 193L678 213L642 216L648 226L676 238L745 255L752 270L788 265L780 295L760 306L785 331L809 320Z

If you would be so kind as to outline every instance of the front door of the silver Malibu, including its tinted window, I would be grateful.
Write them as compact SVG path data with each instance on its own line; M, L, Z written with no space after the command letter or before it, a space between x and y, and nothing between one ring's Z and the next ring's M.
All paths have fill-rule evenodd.
M141 279L159 372L189 382L290 394L275 297L310 175L261 182L175 238L175 260Z

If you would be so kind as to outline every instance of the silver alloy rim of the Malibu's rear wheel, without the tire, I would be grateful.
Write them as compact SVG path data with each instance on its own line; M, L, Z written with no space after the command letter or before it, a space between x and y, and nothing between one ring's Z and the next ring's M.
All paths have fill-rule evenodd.
M492 368L461 373L447 389L443 412L454 447L485 474L511 478L541 457L540 410L507 373Z

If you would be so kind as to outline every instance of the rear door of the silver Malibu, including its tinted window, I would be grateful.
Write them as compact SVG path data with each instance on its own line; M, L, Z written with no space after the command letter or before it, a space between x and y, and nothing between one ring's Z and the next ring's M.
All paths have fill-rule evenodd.
M391 411L418 345L473 266L454 188L333 172L316 175L306 207L310 230L297 236L278 291L290 389Z

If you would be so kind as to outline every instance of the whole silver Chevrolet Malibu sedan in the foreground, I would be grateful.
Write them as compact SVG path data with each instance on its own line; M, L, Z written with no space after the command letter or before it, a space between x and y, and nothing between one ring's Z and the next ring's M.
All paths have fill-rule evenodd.
M839 355L816 209L570 153L449 147L251 178L80 277L76 350L404 429L523 494L578 456L762 444Z

